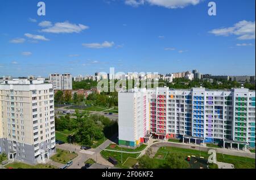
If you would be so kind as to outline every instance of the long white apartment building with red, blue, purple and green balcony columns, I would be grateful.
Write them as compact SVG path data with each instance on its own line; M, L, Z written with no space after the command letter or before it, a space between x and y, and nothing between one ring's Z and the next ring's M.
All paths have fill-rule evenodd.
M147 124L140 125L143 111L137 104L144 107L144 102ZM119 144L145 141L147 127L147 132L160 139L255 147L255 91L249 89L133 89L120 91L118 103Z

